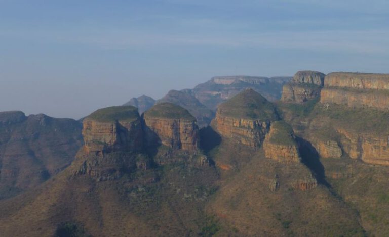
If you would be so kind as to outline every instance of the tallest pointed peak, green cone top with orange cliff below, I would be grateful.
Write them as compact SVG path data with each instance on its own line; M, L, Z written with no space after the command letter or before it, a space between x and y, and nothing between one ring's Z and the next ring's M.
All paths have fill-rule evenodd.
M246 89L218 107L215 125L222 136L256 149L276 120L274 106L253 89Z

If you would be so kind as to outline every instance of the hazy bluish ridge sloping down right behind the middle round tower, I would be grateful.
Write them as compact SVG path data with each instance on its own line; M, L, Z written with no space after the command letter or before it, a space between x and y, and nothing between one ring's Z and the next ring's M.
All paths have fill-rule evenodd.
M215 116L215 114L201 104L196 97L182 91L170 90L165 97L157 101L157 104L164 102L172 103L188 110L189 113L196 118L200 128L208 126Z

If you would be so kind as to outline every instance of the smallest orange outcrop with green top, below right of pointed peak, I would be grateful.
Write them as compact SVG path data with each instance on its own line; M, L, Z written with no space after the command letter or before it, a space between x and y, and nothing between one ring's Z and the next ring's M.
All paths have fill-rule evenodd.
M296 163L301 160L293 130L283 121L271 124L270 132L263 143L263 150L266 158L281 163Z

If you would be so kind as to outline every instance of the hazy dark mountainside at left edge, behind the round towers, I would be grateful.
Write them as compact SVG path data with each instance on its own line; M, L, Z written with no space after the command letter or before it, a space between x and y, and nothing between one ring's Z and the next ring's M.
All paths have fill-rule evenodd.
M33 188L73 160L82 145L73 119L23 112L0 113L0 199Z

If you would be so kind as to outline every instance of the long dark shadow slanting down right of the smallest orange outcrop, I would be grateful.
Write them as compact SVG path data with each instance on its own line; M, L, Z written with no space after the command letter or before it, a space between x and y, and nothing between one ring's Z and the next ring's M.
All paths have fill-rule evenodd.
M301 137L296 137L296 140L299 144L299 153L302 163L316 175L319 184L331 188L331 185L326 180L324 166L320 162L319 153L314 146Z

